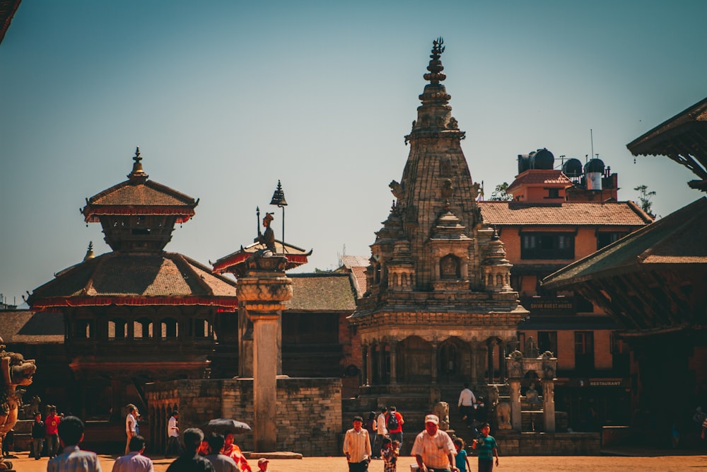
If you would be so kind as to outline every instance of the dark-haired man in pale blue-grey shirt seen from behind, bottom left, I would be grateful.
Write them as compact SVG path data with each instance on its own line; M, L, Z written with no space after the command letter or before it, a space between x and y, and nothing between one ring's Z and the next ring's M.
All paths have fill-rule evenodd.
M101 472L95 452L78 448L78 443L83 441L83 421L75 416L67 416L59 423L58 430L64 449L62 454L49 459L47 472Z

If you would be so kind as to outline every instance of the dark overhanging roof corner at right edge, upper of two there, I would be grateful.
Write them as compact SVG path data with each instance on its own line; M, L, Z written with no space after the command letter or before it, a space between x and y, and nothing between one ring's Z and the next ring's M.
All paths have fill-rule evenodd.
M689 186L707 191L707 98L626 144L634 156L668 156L700 180Z

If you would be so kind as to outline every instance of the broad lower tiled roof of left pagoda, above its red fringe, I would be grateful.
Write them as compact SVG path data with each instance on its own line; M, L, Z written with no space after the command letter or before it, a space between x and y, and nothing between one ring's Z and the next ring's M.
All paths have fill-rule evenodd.
M106 253L60 272L35 289L29 302L71 297L235 299L235 282L179 253Z

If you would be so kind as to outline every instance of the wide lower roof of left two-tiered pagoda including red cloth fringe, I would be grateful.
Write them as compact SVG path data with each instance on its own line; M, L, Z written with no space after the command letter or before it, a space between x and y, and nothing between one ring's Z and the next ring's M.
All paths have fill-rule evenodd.
M105 253L57 273L28 298L32 309L105 305L238 307L235 282L179 253Z

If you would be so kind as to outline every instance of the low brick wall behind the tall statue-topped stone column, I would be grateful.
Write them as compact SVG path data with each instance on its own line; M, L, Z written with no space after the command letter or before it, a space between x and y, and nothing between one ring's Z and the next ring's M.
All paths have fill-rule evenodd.
M233 418L253 424L252 379L158 382L146 387L146 396L150 415L153 404L177 403L180 431L199 427L213 418ZM279 451L295 451L305 456L340 453L341 379L277 379L277 398ZM235 442L243 451L252 451L252 432L239 434Z

